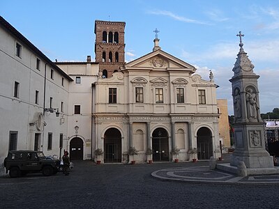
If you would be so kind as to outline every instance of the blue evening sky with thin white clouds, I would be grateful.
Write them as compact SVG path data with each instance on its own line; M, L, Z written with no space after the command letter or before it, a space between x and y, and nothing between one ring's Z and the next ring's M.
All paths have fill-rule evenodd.
M126 22L126 62L152 52L155 29L163 51L194 65L233 113L232 78L243 49L259 75L262 113L279 107L279 1L262 0L0 0L0 15L49 59L86 61L94 53L95 20Z

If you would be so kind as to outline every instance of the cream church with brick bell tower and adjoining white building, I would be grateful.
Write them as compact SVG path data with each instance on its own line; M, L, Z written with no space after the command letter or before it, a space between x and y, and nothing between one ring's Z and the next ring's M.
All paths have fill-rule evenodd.
M1 86L9 91L0 90L0 113L13 118L1 127L1 159L10 149L36 149L96 160L98 148L102 163L130 162L129 148L138 151L137 162L148 160L148 149L154 162L220 157L212 73L202 79L193 65L164 52L157 37L149 54L125 63L124 29L125 22L96 20L96 61L52 62L1 17L1 73L8 75Z

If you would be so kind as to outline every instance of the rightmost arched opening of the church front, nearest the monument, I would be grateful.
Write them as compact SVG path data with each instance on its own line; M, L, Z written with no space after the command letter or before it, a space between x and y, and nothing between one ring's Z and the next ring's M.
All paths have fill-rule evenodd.
M197 131L197 158L209 160L211 156L213 156L211 131L207 127L201 127Z

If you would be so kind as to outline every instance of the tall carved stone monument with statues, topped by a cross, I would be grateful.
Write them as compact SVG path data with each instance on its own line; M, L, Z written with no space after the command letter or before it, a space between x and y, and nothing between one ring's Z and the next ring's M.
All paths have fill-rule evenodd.
M234 101L234 140L235 150L227 171L239 173L239 164L245 164L247 175L278 173L273 167L273 157L265 149L264 125L259 111L259 75L253 72L254 65L244 52L241 31L240 50L232 71L232 97ZM219 167L218 167L219 169Z

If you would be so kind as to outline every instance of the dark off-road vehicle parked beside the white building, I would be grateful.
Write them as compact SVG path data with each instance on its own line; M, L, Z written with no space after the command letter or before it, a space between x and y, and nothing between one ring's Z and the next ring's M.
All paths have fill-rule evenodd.
M6 173L9 171L11 178L38 172L42 172L44 176L51 176L59 171L59 166L59 160L47 159L43 152L33 150L9 151L4 160Z

